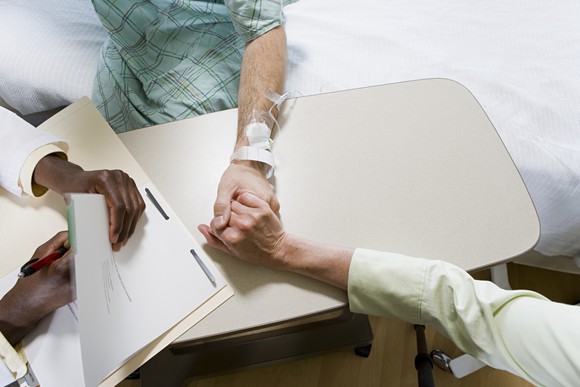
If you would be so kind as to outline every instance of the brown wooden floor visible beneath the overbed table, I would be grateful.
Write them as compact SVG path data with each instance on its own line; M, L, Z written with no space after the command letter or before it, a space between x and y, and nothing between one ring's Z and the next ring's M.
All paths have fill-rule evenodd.
M509 278L513 288L536 290L548 298L565 303L580 300L580 281L577 275L553 272L522 265L509 264ZM475 273L478 279L488 279L489 271ZM410 324L394 319L371 317L375 335L371 355L355 356L352 349L344 349L319 356L294 360L277 365L262 366L211 378L184 383L187 387L355 387L355 386L417 386L414 368L416 354L415 331ZM441 348L450 356L461 352L445 337L427 329L430 349ZM520 387L529 383L511 374L485 367L463 379L456 379L434 369L437 386L494 386ZM138 381L125 381L122 387L138 387Z

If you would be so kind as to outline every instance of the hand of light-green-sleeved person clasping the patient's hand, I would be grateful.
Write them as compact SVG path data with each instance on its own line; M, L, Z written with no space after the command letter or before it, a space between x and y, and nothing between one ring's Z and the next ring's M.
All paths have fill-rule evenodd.
M215 221L198 227L210 246L250 263L280 269L286 266L288 234L264 200L242 193L231 202L228 224L217 228Z

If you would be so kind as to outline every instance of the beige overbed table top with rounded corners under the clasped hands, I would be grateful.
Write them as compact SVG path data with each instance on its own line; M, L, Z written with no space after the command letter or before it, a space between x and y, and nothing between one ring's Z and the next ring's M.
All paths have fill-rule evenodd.
M120 137L199 242L232 152L236 110ZM273 180L288 231L474 270L531 249L539 221L475 98L442 79L285 102ZM180 340L343 306L344 292L291 273L209 256L236 295Z

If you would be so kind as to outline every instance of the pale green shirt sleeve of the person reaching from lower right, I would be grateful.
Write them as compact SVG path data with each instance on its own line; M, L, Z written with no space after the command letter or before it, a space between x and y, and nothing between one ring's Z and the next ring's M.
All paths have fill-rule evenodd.
M353 312L433 326L464 352L531 383L580 380L579 307L476 281L447 262L363 249L353 255L348 297Z

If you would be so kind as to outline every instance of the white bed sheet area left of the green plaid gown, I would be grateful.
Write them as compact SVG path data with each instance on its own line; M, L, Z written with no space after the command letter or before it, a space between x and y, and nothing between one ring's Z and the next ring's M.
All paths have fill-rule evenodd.
M91 95L107 33L91 0L0 0L0 105L22 114Z

